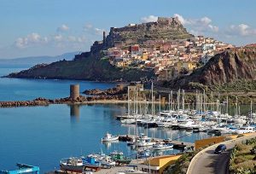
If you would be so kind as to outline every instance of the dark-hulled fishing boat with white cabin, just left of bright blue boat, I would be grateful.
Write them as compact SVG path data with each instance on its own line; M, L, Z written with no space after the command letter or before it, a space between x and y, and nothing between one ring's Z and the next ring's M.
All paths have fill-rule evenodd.
M60 169L61 169L61 171L71 171L71 172L83 173L84 163L83 163L83 160L78 157L61 159Z

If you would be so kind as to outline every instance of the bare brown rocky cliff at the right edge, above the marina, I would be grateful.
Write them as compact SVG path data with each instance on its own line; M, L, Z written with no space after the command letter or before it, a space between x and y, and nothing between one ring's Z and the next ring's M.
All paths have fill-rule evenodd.
M177 78L172 87L191 88L191 84L222 85L237 80L256 80L256 47L227 49L212 57L207 65L195 70L189 76Z

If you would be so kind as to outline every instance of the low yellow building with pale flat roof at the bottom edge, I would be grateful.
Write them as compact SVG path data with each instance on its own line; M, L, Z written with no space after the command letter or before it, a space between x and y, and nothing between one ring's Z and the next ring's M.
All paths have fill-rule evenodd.
M182 154L153 157L144 161L143 164L137 165L138 170L148 173L162 174L168 166L174 164L174 162L181 156Z

